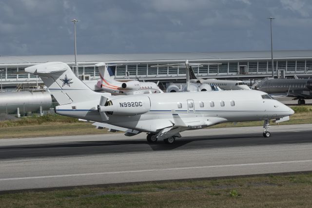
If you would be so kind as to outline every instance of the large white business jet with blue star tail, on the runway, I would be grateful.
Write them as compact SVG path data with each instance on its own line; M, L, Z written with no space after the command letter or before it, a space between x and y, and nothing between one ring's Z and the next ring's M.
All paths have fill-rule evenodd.
M25 71L39 75L45 83L60 104L56 113L132 130L128 136L147 132L151 143L163 139L173 144L185 130L261 120L265 121L263 136L270 137L269 121L287 121L294 113L257 90L111 96L92 91L63 62L42 63Z

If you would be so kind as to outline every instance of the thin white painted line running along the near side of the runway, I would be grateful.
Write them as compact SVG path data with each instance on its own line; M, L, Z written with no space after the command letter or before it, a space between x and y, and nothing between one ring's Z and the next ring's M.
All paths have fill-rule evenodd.
M72 177L72 176L108 175L108 174L120 174L120 173L155 172L155 171L168 171L168 170L188 170L188 169L202 169L202 168L214 168L214 167L262 166L262 165L273 165L273 164L309 163L309 162L312 162L312 160L279 161L279 162L248 163L248 164L232 164L232 165L218 165L218 166L176 167L176 168L163 168L163 169L116 171L116 172L80 173L80 174L67 174L67 175L47 175L47 176L33 176L33 177L20 177L20 178L1 178L0 181L26 180L26 179L44 179L44 178L60 178L60 177Z

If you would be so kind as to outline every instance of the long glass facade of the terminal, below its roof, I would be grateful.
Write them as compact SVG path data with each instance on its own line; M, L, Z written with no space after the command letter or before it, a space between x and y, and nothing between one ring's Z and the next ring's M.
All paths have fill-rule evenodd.
M159 63L162 64L162 63ZM277 68L276 68L277 66ZM219 62L216 64L193 66L195 75L209 76L209 75L238 75L240 70L246 67L244 74L248 75L271 75L271 60L249 62ZM74 67L72 67L74 68ZM1 67L2 81L27 81L36 80L36 75L24 73L24 67ZM285 70L285 74L292 73L312 73L312 60L277 60L274 61L274 74L276 70ZM74 68L75 72L75 68ZM76 72L75 72L76 73ZM78 66L79 75L87 75L90 80L99 78L97 66ZM172 66L158 66L157 64L128 64L117 65L116 77L117 79L136 78L138 77L166 77L170 78L185 76L185 67Z

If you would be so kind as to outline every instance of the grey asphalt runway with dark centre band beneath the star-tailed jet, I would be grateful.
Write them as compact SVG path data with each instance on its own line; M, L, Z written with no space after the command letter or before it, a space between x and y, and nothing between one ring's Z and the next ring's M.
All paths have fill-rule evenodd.
M311 171L312 124L200 129L176 144L145 134L0 140L0 190Z

